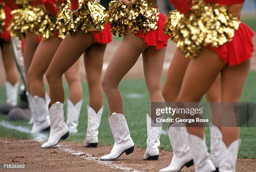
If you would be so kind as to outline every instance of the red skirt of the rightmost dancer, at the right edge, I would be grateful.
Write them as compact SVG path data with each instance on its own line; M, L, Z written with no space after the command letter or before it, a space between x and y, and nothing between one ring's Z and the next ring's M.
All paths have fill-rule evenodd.
M231 42L227 42L218 48L210 46L208 48L218 53L223 62L230 66L238 65L253 56L253 35L254 32L241 22Z

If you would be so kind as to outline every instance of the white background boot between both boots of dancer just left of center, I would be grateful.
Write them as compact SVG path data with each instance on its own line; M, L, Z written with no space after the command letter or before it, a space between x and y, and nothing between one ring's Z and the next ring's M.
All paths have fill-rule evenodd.
M69 127L69 133L77 133L78 120L82 105L83 100L80 100L76 105L74 105L71 100L67 99L67 126Z

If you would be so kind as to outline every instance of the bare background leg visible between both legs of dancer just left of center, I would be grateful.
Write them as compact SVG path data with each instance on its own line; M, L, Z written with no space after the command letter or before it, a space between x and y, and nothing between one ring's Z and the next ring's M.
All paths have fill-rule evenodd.
M79 60L65 72L65 77L69 84L69 99L74 105L82 100L82 85L79 76Z

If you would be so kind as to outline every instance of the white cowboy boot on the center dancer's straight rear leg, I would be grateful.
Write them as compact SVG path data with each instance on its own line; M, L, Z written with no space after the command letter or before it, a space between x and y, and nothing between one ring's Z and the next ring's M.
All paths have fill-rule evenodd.
M160 119L163 119L162 116ZM155 123L151 117L146 114L147 122L147 148L144 154L144 160L158 160L159 158L159 149L160 146L160 135L162 130L163 122Z

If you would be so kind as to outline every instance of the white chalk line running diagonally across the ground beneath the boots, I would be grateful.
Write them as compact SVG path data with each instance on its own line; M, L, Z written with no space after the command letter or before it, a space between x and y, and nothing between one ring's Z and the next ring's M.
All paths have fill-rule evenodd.
M46 134L43 133L38 133L38 134L32 134L30 132L30 129L28 129L27 127L23 127L23 126L15 126L10 124L9 122L6 122L4 120L0 121L0 126L8 128L8 129L12 129L12 130L16 130L19 132L24 132L27 134L30 134L32 136L32 140L36 141L36 142L43 142L46 141L48 136ZM126 167L124 165L119 165L119 164L114 164L111 161L101 161L99 157L95 157L89 153L86 152L82 152L82 151L77 151L77 150L73 150L71 147L65 147L63 145L57 145L56 148L58 148L59 150L62 150L64 152L67 152L69 154L72 155L76 155L79 157L82 157L84 160L87 161L94 161L100 165L105 165L114 169L118 169L118 170L122 170L122 171L128 171L128 172L142 172L141 170L136 170L130 167Z

